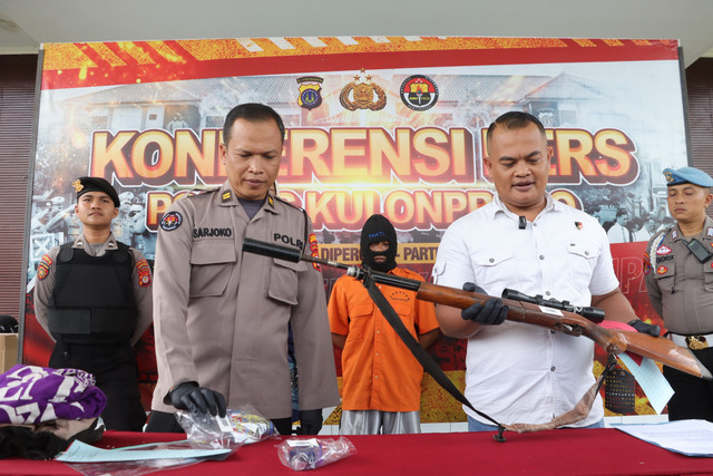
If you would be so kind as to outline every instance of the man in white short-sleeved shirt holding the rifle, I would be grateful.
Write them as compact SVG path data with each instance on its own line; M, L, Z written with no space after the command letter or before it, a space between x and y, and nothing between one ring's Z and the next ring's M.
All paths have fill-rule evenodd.
M618 288L609 242L597 220L553 200L545 191L551 153L545 128L526 113L500 116L488 129L485 158L496 187L494 201L453 222L433 266L434 282L461 288L476 283L487 294L506 288L545 299L594 305L606 318L635 324ZM572 410L594 383L594 343L586 338L505 321L497 298L460 310L437 305L448 337L467 338L466 397L502 424L545 424ZM495 430L468 414L469 430ZM576 427L603 426L597 400Z

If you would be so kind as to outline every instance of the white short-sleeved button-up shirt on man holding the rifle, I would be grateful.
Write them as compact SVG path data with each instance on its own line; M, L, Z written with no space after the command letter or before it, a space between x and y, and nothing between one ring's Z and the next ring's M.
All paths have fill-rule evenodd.
M499 197L453 222L438 249L434 282L475 282L490 295L506 288L545 299L590 305L592 295L618 286L606 232L596 218L554 201L518 226ZM506 321L468 339L466 397L504 424L543 424L572 410L594 383L594 342L531 324ZM468 408L479 421L490 421ZM604 415L597 396L588 426Z

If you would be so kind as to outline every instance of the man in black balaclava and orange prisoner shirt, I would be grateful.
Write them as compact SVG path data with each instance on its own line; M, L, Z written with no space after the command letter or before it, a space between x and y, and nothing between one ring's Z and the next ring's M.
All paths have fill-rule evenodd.
M372 215L364 223L360 244L362 265L412 280L413 271L397 268L397 232L389 220ZM416 292L378 284L403 324L423 348L440 331L433 304ZM408 434L421 431L423 368L369 297L363 283L342 276L328 305L332 342L342 349L342 435Z

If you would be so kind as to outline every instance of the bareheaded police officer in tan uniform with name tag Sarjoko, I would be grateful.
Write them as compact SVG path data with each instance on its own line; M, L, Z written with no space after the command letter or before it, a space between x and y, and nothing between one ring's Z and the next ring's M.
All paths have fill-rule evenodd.
M158 382L147 431L180 431L176 408L225 415L250 405L292 431L287 328L300 369L303 433L339 404L322 274L313 264L243 253L251 237L316 253L312 223L268 190L284 126L260 104L225 119L222 187L175 202L160 222L154 294Z

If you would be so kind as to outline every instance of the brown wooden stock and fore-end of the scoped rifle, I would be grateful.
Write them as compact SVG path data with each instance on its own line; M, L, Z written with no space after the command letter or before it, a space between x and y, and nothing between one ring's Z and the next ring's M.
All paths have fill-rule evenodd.
M391 283L389 283L391 284ZM490 299L487 294L462 291L438 284L422 283L417 298L451 308L466 309L476 302L484 303ZM508 307L509 321L548 328L570 336L585 336L598 343L607 353L629 351L642 357L662 362L682 372L711 380L711 372L703 367L696 357L686 348L678 347L668 339L649 334L605 329L588 319L558 309L531 304L511 299L502 299Z

